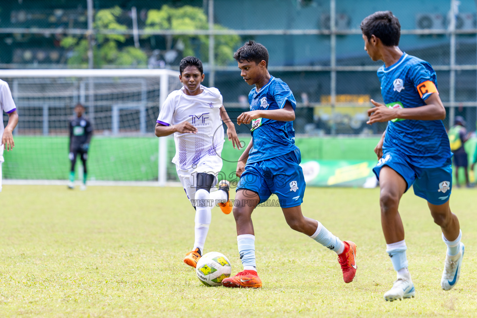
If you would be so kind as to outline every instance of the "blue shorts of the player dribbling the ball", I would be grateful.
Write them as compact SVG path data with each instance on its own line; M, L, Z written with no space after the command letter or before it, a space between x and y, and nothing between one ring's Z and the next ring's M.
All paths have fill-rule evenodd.
M247 164L237 190L256 192L260 197L259 204L267 201L273 193L278 196L282 208L301 205L305 178L300 163L300 149L295 149L288 154Z

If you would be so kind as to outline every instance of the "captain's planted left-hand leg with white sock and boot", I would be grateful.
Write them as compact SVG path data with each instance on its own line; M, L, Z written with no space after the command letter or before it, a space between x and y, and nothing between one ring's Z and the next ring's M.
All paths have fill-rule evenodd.
M415 289L407 269L404 226L398 212L399 200L406 191L407 183L400 174L384 166L379 173L379 185L381 226L386 240L386 252L389 253L394 270L397 272L397 279L393 287L384 293L384 299L393 301L414 297Z

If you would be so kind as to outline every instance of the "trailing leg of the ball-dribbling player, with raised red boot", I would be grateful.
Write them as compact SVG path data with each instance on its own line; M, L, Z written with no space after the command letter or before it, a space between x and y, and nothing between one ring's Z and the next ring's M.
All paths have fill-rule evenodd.
M282 208L287 224L295 231L310 236L321 245L333 250L338 254L338 262L343 272L345 283L351 283L356 275L356 244L351 241L341 241L332 235L317 220L303 216L301 205Z

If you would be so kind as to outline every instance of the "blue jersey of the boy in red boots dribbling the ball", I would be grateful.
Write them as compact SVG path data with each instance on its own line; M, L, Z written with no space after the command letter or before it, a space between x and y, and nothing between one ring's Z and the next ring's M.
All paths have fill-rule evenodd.
M295 110L296 101L290 88L285 82L273 76L259 92L254 88L249 93L250 111L280 109L285 106L286 101L289 101ZM268 118L254 119L251 134L253 147L249 151L247 164L278 157L298 149L295 146L293 122L280 122Z

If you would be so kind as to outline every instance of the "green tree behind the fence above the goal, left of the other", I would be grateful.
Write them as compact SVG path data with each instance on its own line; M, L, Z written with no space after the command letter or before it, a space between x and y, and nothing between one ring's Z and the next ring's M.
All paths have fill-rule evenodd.
M121 8L115 6L110 9L99 10L94 19L94 28L97 30L126 30L127 27L117 22L121 14ZM146 65L147 56L141 49L134 46L118 48L118 42L124 43L124 34L97 34L96 43L93 46L94 67L103 65ZM69 65L88 65L88 38L87 36L67 36L61 41L61 46L71 50L72 55L68 58Z

